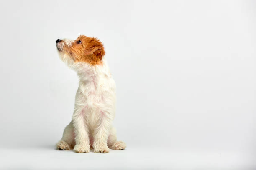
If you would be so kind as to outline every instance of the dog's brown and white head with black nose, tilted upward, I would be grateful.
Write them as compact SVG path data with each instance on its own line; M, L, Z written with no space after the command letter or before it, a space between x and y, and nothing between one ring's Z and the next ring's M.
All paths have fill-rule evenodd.
M76 63L100 65L105 54L102 42L95 37L80 35L76 40L56 41L61 60L72 66Z

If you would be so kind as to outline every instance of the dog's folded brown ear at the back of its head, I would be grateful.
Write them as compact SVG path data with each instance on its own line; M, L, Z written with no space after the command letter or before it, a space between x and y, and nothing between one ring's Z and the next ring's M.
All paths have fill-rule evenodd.
M84 57L90 60L93 64L97 64L102 60L104 55L105 50L102 42L96 38L92 38L92 40L86 45Z

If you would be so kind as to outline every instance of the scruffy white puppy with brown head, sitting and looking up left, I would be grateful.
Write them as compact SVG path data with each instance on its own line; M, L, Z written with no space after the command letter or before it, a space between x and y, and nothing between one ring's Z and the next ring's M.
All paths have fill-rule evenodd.
M77 153L108 153L109 148L123 150L117 141L112 120L115 116L115 81L113 80L102 42L81 35L77 40L57 40L61 60L77 72L79 87L72 121L64 129L59 150L74 148Z

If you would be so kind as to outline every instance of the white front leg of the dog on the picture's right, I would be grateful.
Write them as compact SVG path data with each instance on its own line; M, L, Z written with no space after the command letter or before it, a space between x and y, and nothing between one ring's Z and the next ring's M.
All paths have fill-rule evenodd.
M97 127L94 132L93 148L95 153L108 153L108 135L112 122L112 116L108 112L100 111Z

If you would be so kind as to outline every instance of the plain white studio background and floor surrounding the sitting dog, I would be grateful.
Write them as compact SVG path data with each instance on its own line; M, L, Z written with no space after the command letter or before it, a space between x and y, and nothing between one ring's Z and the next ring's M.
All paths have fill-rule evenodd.
M1 1L4 169L256 168L255 1ZM76 73L56 39L98 37L126 150L54 150Z

